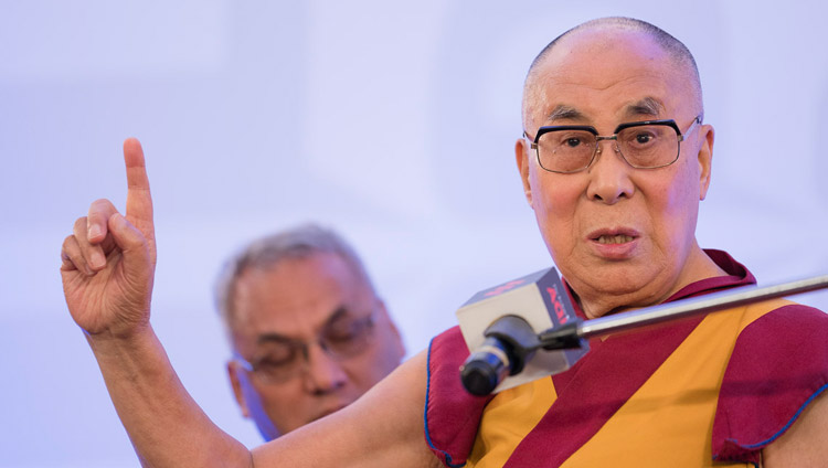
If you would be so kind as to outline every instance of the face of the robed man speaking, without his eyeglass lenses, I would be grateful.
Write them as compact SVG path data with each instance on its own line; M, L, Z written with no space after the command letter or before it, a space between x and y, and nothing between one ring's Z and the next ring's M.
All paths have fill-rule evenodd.
M689 71L640 33L576 32L530 79L524 128L675 119L682 134L701 111ZM531 141L516 145L527 200L555 265L588 316L666 299L708 267L696 244L699 201L710 180L713 131L697 126L671 166L634 169L602 141L590 168L548 172Z

